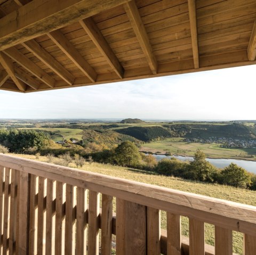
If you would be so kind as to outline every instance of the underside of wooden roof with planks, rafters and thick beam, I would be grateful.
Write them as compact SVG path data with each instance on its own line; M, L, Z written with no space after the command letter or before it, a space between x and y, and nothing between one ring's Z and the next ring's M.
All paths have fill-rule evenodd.
M255 64L255 0L0 0L0 89Z

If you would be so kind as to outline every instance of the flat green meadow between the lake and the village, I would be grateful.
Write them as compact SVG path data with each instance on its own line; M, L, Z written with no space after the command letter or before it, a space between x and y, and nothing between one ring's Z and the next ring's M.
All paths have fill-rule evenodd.
M222 148L220 144L215 143L187 143L182 140L183 138L167 138L162 141L146 143L141 147L141 151L194 156L196 150L200 149L208 158L256 160L256 149L229 149Z

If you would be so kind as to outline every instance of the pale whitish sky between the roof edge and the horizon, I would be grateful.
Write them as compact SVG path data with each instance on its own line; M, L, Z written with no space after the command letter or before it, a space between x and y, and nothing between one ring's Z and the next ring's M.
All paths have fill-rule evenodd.
M0 119L255 120L256 65L36 93L0 91Z

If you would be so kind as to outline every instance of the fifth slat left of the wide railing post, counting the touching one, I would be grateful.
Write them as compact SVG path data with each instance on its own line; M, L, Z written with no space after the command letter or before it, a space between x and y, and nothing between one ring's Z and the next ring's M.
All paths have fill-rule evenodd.
M65 255L72 254L73 237L73 186L66 184Z

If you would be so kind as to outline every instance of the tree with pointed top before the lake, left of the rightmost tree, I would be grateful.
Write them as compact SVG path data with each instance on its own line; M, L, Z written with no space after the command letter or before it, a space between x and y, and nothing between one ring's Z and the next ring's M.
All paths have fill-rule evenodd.
M201 182L213 182L217 169L206 160L204 152L197 150L194 160L190 162L189 178Z

